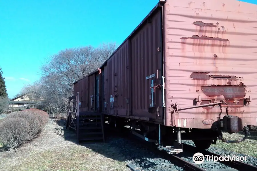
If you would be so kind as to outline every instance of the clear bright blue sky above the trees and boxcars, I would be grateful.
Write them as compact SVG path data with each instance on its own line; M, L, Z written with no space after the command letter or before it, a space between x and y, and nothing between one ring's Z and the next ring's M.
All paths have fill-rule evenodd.
M9 97L39 79L44 59L60 50L121 44L157 2L0 0L0 66Z

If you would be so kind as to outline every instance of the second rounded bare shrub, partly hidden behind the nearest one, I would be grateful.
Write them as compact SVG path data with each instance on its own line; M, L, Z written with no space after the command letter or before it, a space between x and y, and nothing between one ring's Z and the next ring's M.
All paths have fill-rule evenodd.
M36 115L33 115L33 113L29 113L26 111L19 111L19 112L14 112L7 115L7 118L22 118L28 121L29 128L30 128L29 140L37 137L38 133L41 131L40 121Z

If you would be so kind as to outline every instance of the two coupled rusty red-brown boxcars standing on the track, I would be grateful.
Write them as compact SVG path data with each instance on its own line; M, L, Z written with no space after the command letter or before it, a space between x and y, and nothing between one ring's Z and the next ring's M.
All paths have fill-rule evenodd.
M257 124L256 9L236 0L160 0L99 70L74 84L81 110L121 126L128 120L135 135L168 152L182 151L186 139L199 148L217 138L240 142L221 131L247 137Z

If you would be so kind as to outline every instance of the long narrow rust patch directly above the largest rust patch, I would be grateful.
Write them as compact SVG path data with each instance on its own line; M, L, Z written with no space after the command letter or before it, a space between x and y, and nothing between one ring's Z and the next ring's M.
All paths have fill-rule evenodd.
M210 80L212 79L228 79L228 80L238 80L236 76L222 76L222 75L209 75L210 72L192 72L190 78L192 80ZM240 78L240 77L239 77ZM231 84L231 82L230 82Z

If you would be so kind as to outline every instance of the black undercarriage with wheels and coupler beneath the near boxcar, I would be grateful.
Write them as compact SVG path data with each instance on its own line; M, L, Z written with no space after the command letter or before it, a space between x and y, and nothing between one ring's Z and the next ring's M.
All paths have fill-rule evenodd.
M245 137L241 140L231 141L223 138L222 131L232 134L234 133L232 132L233 128L235 129L235 127L240 125L235 123L235 120L238 121L240 118L230 115L226 115L222 119L220 122L221 125L216 125L211 129L167 127L161 124L136 119L126 119L111 115L106 115L106 118L111 127L115 127L119 131L122 131L125 127L129 127L132 134L150 143L155 143L158 145L158 149L165 150L169 154L178 154L183 151L181 140L191 140L198 149L206 150L211 144L216 144L217 140L221 140L226 143L239 143L244 141L249 135L248 127L244 127L243 131L245 133ZM234 127L231 125L233 124L233 121ZM229 126L231 127L228 127L226 123L229 123ZM222 127L222 125L226 125L226 128Z

